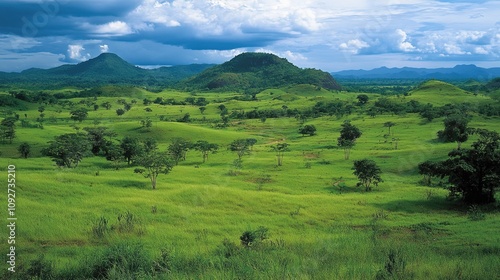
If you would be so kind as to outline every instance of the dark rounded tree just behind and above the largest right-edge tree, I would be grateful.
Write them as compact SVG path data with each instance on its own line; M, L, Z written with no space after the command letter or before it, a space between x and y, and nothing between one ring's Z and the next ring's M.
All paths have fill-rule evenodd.
M437 136L443 142L457 142L457 149L460 149L462 143L469 139L468 124L467 117L450 115L444 120L444 130L438 131Z

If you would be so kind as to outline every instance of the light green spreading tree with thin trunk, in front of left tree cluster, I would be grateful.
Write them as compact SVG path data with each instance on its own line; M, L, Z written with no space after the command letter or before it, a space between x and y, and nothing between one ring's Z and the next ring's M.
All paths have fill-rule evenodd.
M170 155L158 151L144 153L137 157L134 162L143 167L134 169L134 172L142 174L145 178L149 178L153 190L156 189L158 175L168 174L174 167L174 161Z

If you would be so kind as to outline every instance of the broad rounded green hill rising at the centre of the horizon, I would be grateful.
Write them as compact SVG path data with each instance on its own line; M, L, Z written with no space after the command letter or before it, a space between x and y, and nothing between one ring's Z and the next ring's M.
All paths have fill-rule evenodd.
M339 90L340 85L326 72L301 69L284 58L267 53L243 53L228 62L209 68L178 86L186 90L251 91L296 84L312 84Z

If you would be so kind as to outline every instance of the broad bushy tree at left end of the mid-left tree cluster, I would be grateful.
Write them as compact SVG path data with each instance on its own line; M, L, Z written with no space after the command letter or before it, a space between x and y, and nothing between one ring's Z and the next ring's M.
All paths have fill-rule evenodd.
M58 166L77 167L80 161L90 153L92 144L83 133L68 133L49 141L49 147L42 154L52 157Z

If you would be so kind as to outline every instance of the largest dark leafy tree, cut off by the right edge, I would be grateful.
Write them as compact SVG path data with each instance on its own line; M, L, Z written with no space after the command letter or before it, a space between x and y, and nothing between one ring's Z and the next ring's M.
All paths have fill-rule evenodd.
M447 177L452 195L461 196L469 204L495 201L500 187L500 136L497 132L477 129L479 139L472 149L453 150L436 172Z

